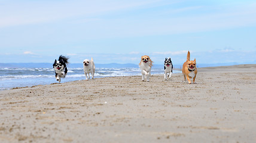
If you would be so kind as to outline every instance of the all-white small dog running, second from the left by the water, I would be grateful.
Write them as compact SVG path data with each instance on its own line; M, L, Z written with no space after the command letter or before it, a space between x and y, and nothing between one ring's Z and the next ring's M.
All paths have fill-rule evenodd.
M90 79L90 74L92 74L92 79L94 79L95 77L95 63L93 63L93 58L92 60L84 60L83 62L84 64L84 74L86 75L86 80ZM87 74L89 76L89 78L87 77Z

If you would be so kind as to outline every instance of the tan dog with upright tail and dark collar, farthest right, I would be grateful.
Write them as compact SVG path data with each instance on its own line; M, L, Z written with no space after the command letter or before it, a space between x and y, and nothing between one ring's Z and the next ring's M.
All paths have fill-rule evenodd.
M191 83L190 78L193 78L193 83L194 80L196 79L196 74L197 74L197 68L196 68L196 58L194 61L190 61L190 51L188 51L187 54L187 61L182 66L182 73L184 75L184 80L188 80L188 83Z

